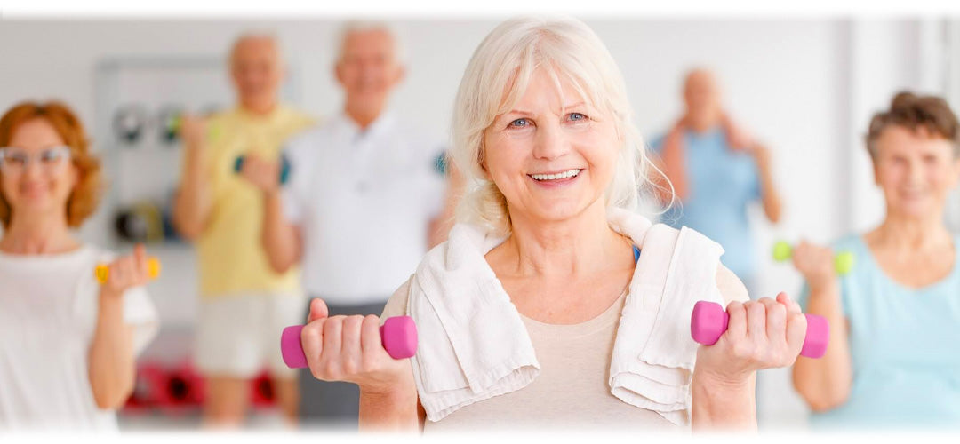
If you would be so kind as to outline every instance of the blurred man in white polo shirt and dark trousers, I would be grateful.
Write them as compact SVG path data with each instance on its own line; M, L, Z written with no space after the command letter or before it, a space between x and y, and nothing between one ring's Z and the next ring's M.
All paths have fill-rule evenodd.
M270 264L282 272L301 263L305 291L323 297L329 315L382 313L449 225L438 218L443 148L388 109L404 77L400 51L386 24L344 25L334 66L346 98L343 113L290 142L285 187L276 181L273 160L251 156L244 174L266 200L263 245ZM300 314L301 324L309 304ZM357 386L301 371L301 424L356 427Z

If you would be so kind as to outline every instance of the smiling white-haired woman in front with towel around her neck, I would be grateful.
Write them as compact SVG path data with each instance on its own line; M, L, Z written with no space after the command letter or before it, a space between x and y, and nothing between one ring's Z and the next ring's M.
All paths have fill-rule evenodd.
M785 294L750 301L706 237L636 215L650 161L599 37L502 23L454 112L458 223L383 313L414 318L416 356L319 299L301 331L315 377L360 387L361 428L756 428L756 370L796 360L804 315ZM712 346L690 339L700 299L730 315Z

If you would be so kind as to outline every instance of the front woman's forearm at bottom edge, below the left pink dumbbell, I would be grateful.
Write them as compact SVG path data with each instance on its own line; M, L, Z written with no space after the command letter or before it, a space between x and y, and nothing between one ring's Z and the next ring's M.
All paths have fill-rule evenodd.
M361 387L359 426L366 431L420 431L417 388L413 382L387 393Z

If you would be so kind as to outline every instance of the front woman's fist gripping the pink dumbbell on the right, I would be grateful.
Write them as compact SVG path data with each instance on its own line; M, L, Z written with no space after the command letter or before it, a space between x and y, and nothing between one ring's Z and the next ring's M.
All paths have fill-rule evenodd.
M731 302L727 331L697 351L696 372L718 384L746 383L756 370L792 365L806 336L806 317L800 305L780 292Z

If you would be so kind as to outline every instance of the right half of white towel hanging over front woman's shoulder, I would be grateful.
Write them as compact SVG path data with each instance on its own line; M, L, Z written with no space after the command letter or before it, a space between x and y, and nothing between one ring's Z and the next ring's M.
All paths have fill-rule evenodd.
M642 248L613 342L611 393L686 426L698 346L690 314L698 300L723 305L716 286L723 248L685 226L661 224L647 230Z

